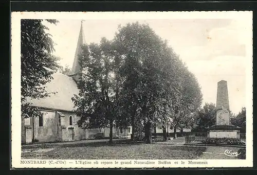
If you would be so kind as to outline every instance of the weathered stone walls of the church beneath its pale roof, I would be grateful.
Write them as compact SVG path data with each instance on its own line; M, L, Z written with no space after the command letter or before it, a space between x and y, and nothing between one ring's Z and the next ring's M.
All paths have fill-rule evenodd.
M33 130L35 142L60 142L94 139L99 133L101 133L103 137L109 137L109 128L80 128L77 124L80 117L77 117L73 113L56 111L42 111L42 113L43 126L39 126L39 117L22 120L22 143L32 142ZM69 123L70 116L72 118L71 124ZM130 132L128 132L128 129L123 129L122 134L119 132L119 128L113 128L114 138L130 136L131 133L132 128L130 128Z

